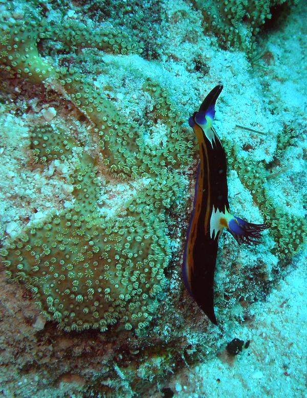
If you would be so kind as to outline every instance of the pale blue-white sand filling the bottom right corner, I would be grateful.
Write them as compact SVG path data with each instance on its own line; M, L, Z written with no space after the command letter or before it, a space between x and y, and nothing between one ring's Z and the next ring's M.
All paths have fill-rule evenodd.
M250 341L236 357L226 351L173 377L181 398L200 396L304 397L307 372L307 276L304 259L268 297L253 305L255 319L237 327L236 338ZM230 338L231 340L232 338Z

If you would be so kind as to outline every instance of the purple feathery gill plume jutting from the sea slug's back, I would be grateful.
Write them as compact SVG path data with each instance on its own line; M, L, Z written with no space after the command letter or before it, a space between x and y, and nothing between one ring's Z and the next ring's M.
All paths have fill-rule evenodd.
M267 228L266 224L252 224L242 218L233 216L228 222L227 229L238 244L246 243L251 245L259 243L261 232Z

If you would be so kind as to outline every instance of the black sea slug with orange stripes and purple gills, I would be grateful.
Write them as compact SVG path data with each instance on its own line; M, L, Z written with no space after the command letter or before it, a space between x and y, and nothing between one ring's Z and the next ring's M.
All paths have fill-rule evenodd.
M218 240L226 228L238 244L257 243L265 224L251 224L230 213L226 154L213 128L215 102L223 85L207 95L189 119L200 148L193 211L187 232L183 278L190 295L217 324L213 307L213 282Z

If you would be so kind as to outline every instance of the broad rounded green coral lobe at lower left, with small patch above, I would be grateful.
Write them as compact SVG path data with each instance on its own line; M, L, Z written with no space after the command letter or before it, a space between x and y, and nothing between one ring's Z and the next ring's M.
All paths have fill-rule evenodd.
M51 126L34 128L38 162L69 158L75 140ZM93 159L83 154L71 184L74 207L48 216L2 249L8 275L25 281L48 319L65 330L125 329L148 325L153 300L166 283L169 244L163 216L140 194L114 218L98 215L99 183Z

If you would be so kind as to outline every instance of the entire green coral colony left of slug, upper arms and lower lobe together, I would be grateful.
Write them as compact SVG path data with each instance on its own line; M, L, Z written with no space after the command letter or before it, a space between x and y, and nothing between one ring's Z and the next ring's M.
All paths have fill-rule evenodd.
M90 34L89 27L74 21L51 27L33 14L22 21L8 20L2 30L5 70L51 86L86 115L110 176L117 181L147 178L119 213L102 217L97 207L100 188L95 160L89 154L80 155L69 180L74 206L7 240L1 255L8 276L24 280L46 317L67 331L89 327L104 331L119 321L125 329L138 332L148 325L166 284L163 269L169 262L170 245L165 210L181 189L176 169L191 161L193 141L182 128L167 91L151 80L143 90L156 102L152 117L167 121L169 135L163 146L147 143L142 126L127 123L77 68L57 67L38 53L38 42L51 37L66 45L115 53L136 50L118 32ZM51 125L32 129L33 158L45 166L55 160L70 161L78 146Z

